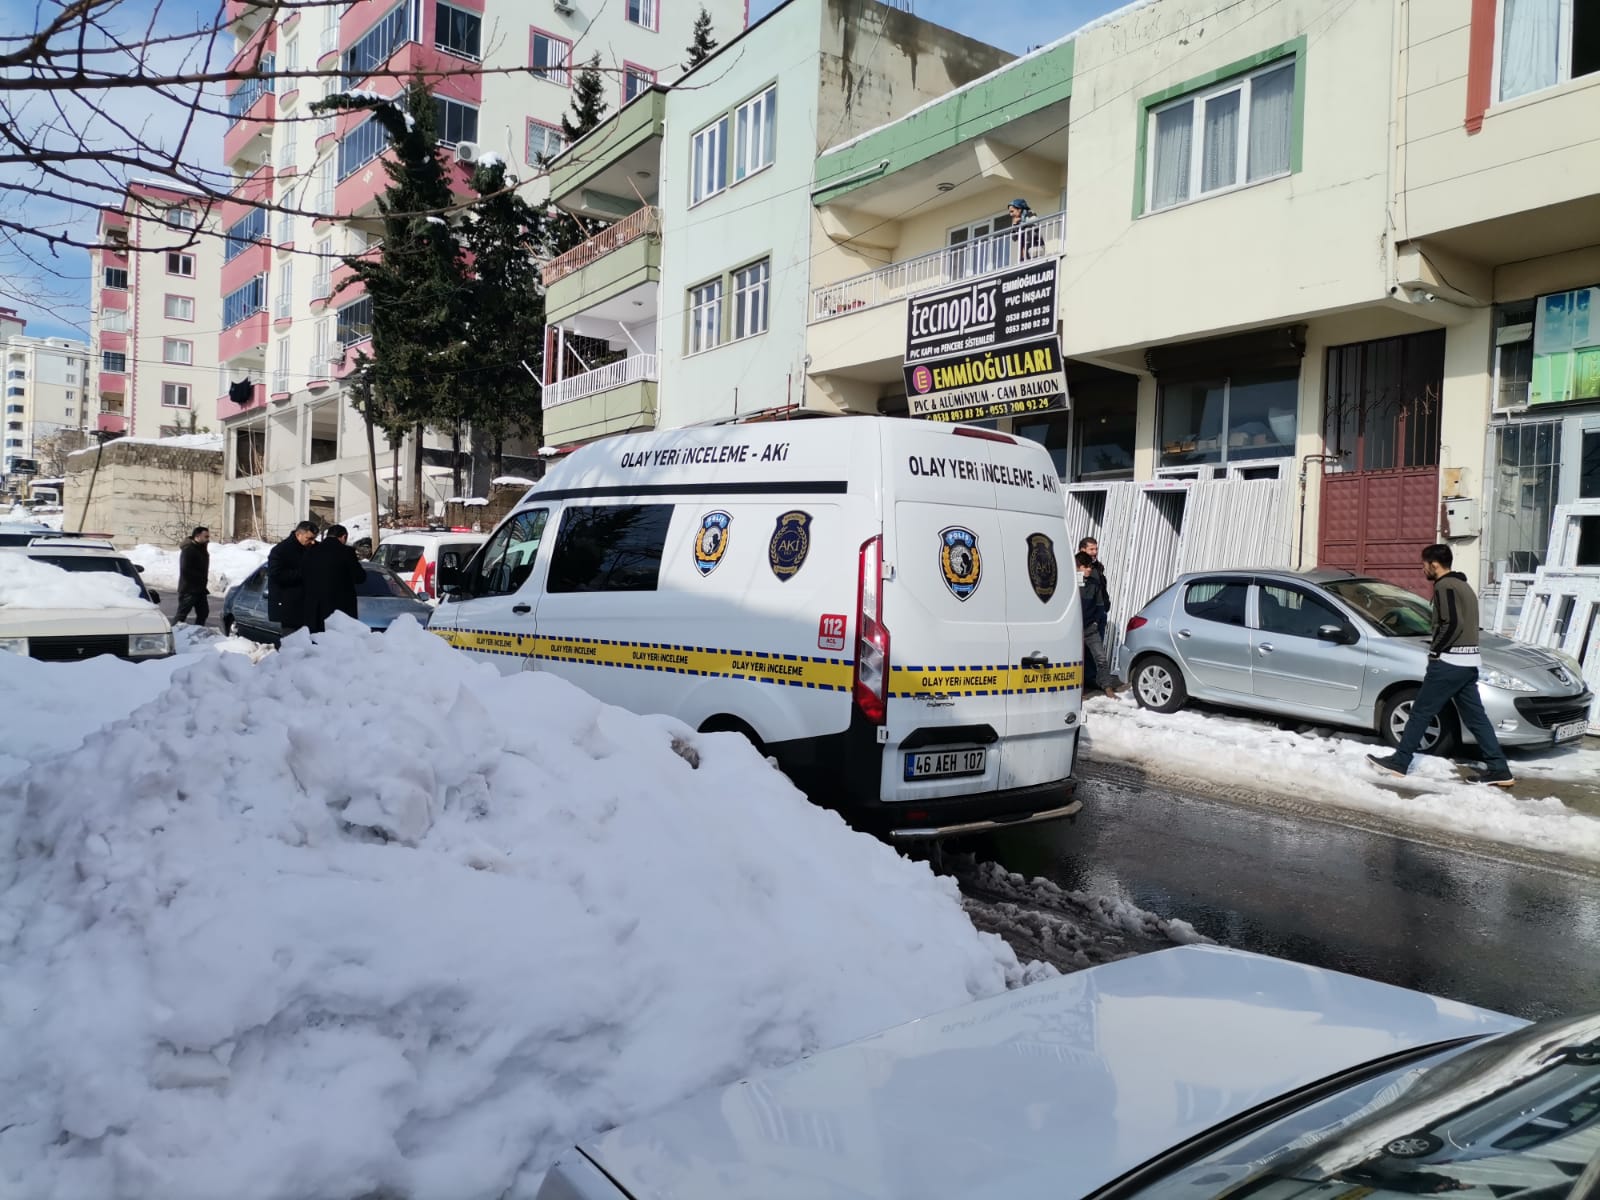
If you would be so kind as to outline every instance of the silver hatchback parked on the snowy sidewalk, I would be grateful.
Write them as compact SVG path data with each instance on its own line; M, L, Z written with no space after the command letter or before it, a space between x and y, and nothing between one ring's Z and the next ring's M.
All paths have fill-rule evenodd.
M1186 574L1128 622L1117 656L1139 704L1176 712L1190 698L1275 717L1374 730L1400 742L1427 669L1432 605L1349 571ZM1478 694L1502 746L1584 736L1589 690L1568 654L1483 634ZM1453 709L1422 739L1451 754Z

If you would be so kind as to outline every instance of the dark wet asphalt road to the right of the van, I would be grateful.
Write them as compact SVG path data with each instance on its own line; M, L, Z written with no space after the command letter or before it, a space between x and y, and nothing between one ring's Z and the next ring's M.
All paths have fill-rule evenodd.
M963 850L1186 920L1224 946L1525 1018L1600 1011L1600 875L1093 768L1080 795L1074 822Z

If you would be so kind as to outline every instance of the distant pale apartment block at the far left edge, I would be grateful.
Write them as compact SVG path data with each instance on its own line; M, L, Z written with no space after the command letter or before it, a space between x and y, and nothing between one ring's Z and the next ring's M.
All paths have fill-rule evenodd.
M0 357L5 360L0 475L14 488L11 466L18 459L37 464L46 453L77 450L70 442L88 424L90 347L70 338L29 338L27 322L14 309L0 309Z

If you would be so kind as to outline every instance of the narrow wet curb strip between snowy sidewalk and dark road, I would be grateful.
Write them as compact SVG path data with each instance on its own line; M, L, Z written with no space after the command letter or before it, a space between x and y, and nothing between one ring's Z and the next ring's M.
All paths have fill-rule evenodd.
M1235 808L1264 810L1269 813L1293 816L1301 821L1317 821L1325 826L1358 829L1366 834L1381 834L1384 837L1397 837L1405 842L1418 842L1426 846L1435 846L1458 854L1472 854L1475 858L1493 859L1496 862L1515 862L1538 870L1550 870L1586 880L1600 880L1600 862L1574 858L1571 854L1558 854L1547 850L1512 846L1490 838L1462 837L1442 830L1437 826L1381 816L1360 808L1347 808L1338 805L1336 802L1310 805L1304 800L1296 800L1277 792L1229 787L1227 784L1205 782L1182 774L1163 774L1162 771L1149 771L1139 766L1094 762L1088 757L1078 758L1075 774L1082 782L1109 784L1112 787L1123 787L1134 792L1154 786L1179 798L1213 800Z

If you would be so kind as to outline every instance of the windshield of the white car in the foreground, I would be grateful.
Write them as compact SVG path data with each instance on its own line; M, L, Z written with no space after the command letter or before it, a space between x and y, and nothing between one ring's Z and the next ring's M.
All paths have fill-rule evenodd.
M1437 1048L1435 1048L1437 1050ZM1600 1194L1600 1016L1390 1061L1309 1104L1197 1139L1141 1200L1592 1200ZM1226 1136L1229 1131L1224 1130Z

